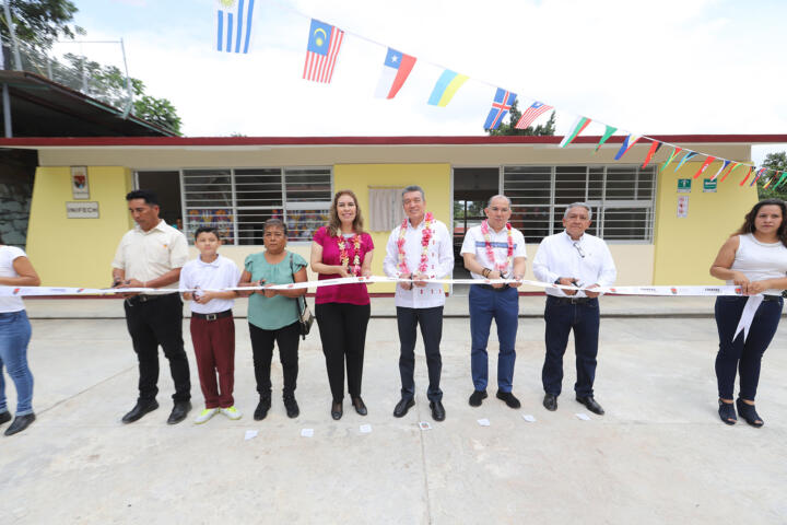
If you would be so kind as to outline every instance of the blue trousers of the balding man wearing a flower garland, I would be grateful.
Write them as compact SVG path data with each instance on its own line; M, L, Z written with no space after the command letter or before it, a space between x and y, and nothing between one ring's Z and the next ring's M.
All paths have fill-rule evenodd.
M470 337L472 353L470 370L473 386L485 390L489 383L489 354L486 343L492 319L497 325L497 388L512 392L514 384L514 363L516 362L516 330L519 322L519 294L516 288L507 287L497 292L479 284L470 287Z

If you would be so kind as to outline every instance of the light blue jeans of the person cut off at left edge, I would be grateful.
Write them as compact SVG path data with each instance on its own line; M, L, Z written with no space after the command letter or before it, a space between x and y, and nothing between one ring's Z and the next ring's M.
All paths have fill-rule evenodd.
M16 386L16 416L33 413L33 374L27 366L30 338L31 326L24 310L0 313L0 413L8 410L3 368Z

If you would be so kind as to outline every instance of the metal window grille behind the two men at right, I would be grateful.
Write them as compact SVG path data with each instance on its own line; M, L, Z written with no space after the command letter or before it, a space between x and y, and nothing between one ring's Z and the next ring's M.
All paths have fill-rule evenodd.
M505 166L503 191L512 199L512 225L529 243L563 230L565 208L577 201L592 209L588 233L653 242L655 166Z

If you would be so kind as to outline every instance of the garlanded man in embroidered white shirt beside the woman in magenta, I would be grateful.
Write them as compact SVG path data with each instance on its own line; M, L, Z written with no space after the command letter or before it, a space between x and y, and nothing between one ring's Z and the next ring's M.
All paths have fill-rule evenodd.
M430 378L426 397L432 418L443 421L445 408L439 387L443 369L439 343L443 337L445 292L443 284L425 282L423 279L450 276L454 270L454 248L446 225L426 213L426 199L420 186L404 188L402 206L407 220L391 232L383 262L388 277L410 279L410 282L397 283L395 294L402 387L401 400L393 409L393 416L401 418L415 405L415 328L421 325Z

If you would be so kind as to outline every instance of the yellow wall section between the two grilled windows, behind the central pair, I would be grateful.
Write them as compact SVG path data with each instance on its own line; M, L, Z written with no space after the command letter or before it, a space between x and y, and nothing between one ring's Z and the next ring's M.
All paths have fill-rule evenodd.
M435 219L443 221L450 231L450 164L337 164L333 166L333 189L352 189L357 196L364 219L368 221L369 188L404 188L416 184L426 195L426 210L431 211ZM372 272L384 276L383 260L390 232L369 233L375 244ZM368 287L369 293L393 293L395 288L393 283Z

